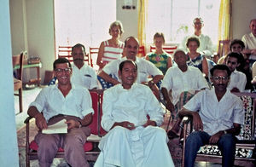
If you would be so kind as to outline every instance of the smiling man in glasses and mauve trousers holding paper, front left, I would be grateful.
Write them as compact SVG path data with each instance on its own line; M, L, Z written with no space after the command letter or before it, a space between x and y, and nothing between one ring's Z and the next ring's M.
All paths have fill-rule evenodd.
M89 167L83 146L90 135L90 129L86 126L91 123L94 113L90 93L88 89L71 83L73 71L67 59L59 58L53 66L58 84L42 89L27 111L29 116L36 119L39 129L35 136L39 165L49 167L61 147L65 150L68 164ZM42 133L50 124L64 118L67 120L67 134Z

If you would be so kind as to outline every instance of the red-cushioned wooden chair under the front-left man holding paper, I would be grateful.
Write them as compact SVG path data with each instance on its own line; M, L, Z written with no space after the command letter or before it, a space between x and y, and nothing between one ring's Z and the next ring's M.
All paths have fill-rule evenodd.
M91 130L91 135L87 138L87 142L84 144L84 152L86 153L86 158L88 161L96 161L100 150L98 149L98 143L101 140L101 116L100 108L102 107L102 89L92 89L90 90L90 96L92 100L92 107L94 109L94 115L92 123L89 125ZM38 159L38 144L35 141L30 141L30 121L32 117L26 118L24 123L26 124L26 167L30 166L30 160ZM64 158L64 150L60 147L58 153L56 153L55 158Z

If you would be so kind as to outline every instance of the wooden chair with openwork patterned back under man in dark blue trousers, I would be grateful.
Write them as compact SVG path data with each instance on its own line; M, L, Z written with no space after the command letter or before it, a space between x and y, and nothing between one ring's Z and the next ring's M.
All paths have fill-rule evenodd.
M252 93L235 93L243 101L243 108L245 112L245 123L241 126L241 133L237 135L239 139L236 143L236 158L235 165L239 166L255 166L255 146L254 140L254 124L255 124L255 110L256 110L256 95ZM191 118L184 118L183 122L183 157L182 166L184 166L184 151L185 141L189 134L188 126L191 124ZM191 132L191 130L190 130ZM201 147L197 153L195 161L206 161L212 163L222 163L222 156L216 145L206 145Z

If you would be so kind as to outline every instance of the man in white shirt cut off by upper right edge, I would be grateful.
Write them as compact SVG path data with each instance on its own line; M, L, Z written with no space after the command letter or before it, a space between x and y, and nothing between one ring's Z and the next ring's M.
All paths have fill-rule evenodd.
M243 54L249 55L250 64L252 66L253 62L256 60L256 19L250 21L249 27L251 33L242 36L241 40L245 44Z

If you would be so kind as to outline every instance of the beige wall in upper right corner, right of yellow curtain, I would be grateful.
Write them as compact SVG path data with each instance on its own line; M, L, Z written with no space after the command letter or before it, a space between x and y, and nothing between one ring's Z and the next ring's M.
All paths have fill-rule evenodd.
M256 0L232 0L233 39L249 33L249 22L255 18Z

